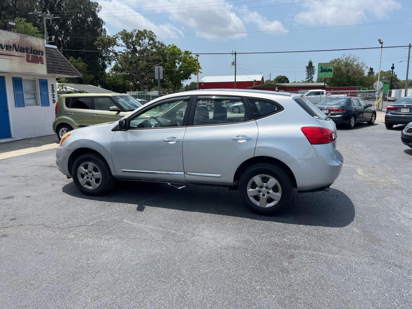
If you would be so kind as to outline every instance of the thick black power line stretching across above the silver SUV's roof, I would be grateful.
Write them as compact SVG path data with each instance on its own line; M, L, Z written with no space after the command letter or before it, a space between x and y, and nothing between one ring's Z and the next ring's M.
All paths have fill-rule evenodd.
M409 45L397 45L397 46L384 46L382 48L403 48L409 47ZM237 54L290 54L290 53L309 53L309 52L339 52L345 50L368 50L368 49L380 49L381 47L355 47L355 48L335 48L335 49L309 49L309 50L290 50L290 51L278 51L278 52L238 52ZM82 49L60 49L71 52L97 52L107 54L157 54L157 55L183 55L184 53L158 53L158 52L108 52L101 50L82 50ZM192 53L199 55L231 55L231 52L221 53Z

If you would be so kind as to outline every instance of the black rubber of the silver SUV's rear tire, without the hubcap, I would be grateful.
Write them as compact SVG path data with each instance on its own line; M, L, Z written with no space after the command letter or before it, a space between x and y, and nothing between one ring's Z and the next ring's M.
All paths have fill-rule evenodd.
M254 204L248 197L247 187L249 181L258 175L268 175L275 178L281 187L281 198L274 206L268 208L262 208ZM245 172L243 172L239 180L239 197L251 211L261 215L277 215L288 207L293 196L293 185L288 174L279 166L274 164L256 164L250 166ZM273 192L270 192L273 194ZM269 197L269 195L267 196ZM262 198L262 197L260 197Z

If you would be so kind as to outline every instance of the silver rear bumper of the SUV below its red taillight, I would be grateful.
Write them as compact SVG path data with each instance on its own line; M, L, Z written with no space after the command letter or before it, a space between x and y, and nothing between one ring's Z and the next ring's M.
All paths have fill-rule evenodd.
M329 187L338 178L343 166L342 154L333 145L314 145L316 159L286 162L295 175L298 191L318 191Z

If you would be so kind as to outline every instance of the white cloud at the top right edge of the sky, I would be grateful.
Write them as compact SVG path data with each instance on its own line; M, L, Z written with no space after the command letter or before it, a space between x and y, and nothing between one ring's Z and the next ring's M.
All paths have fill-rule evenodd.
M396 9L396 0L323 0L302 5L304 10L295 16L295 21L310 25L351 25L365 19L382 18Z

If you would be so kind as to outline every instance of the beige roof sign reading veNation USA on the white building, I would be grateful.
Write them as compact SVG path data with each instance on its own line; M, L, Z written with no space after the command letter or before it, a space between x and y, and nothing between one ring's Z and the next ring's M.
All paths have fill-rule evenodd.
M44 40L0 30L0 71L47 75Z

